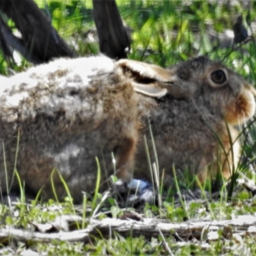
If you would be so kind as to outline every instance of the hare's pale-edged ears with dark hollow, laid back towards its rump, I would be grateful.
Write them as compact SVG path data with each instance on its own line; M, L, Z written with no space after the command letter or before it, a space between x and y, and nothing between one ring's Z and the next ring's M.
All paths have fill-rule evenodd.
M134 60L120 60L117 65L131 79L136 92L154 98L164 97L168 92L164 83L170 85L170 70Z

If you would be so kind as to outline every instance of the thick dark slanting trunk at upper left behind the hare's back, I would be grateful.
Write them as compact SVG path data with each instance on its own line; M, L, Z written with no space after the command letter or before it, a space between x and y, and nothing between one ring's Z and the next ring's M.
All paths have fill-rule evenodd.
M1 0L0 11L13 20L22 35L19 39L6 30L6 42L29 61L43 63L61 56L76 56L33 0Z

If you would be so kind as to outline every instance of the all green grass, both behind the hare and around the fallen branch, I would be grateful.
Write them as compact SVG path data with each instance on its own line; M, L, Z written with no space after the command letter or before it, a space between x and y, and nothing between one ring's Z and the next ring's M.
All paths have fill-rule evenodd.
M250 9L245 9L239 3L230 8L227 4L209 4L207 1L192 1L189 5L184 4L184 1L118 0L116 2L125 24L133 30L132 51L129 58L166 67L177 61L188 60L192 56L207 54L214 60L222 60L249 82L255 83L256 44L254 41L241 45L234 51L231 47L215 47L216 43L211 42L207 36L210 25L216 33L223 33L224 29L232 29L232 19L234 21L235 15L239 13L243 13L245 17L250 10L251 20L255 20L255 3L252 3ZM95 29L91 1L37 0L36 3L44 8L54 28L70 45L75 47L81 56L99 52L97 41L88 42L85 36L87 31ZM15 70L22 70L27 65L29 64L22 60L21 65L17 65ZM0 72L6 74L6 67L7 63L1 55ZM255 159L255 125L248 126L246 130L243 152L250 159ZM241 164L240 170L256 181L255 173L250 172L248 166ZM158 180L160 184L157 186L161 189L161 177ZM188 177L188 182L191 182L191 177ZM85 218L88 216L86 211L92 208L90 211L92 214L97 205L102 203L103 195L97 193L99 182L97 184L92 201L84 196L82 227L86 227ZM63 185L65 186L64 181ZM22 184L20 186L22 187ZM177 183L177 188L180 188L179 183ZM68 191L67 186L65 189ZM148 218L160 215L161 218L167 218L173 222L202 218L221 220L241 214L255 214L256 200L250 192L239 189L234 193L232 189L229 194L232 194L233 198L231 202L228 202L225 187L220 189L223 190L220 200L211 201L203 193L204 204L199 201L188 204L182 197L180 197L180 204L177 204L173 197L169 196L163 200L161 207L146 204L142 214ZM202 191L204 191L203 188ZM107 216L108 211L112 216L120 216L123 210L116 206L115 198L107 201L108 207L101 209L102 213L99 218ZM62 203L56 198L44 203L36 199L26 204L21 198L20 203L14 205L12 209L6 205L0 205L0 227L31 228L31 223L49 223L56 216L74 214L74 211L70 196ZM172 236L162 237L161 234L158 239L145 239L142 236L124 238L114 234L112 238L96 239L90 244L69 244L60 241L52 241L51 244L13 242L15 249L12 246L4 247L4 241L0 243L3 244L2 248L6 248L6 252L9 253L19 254L29 247L39 254L45 253L44 255L84 255L85 253L89 255L234 255L234 252L239 255L248 255L256 252L255 237L252 236L244 237L241 241L220 238L211 243L207 243L207 239L202 239L200 242L192 240L177 243Z

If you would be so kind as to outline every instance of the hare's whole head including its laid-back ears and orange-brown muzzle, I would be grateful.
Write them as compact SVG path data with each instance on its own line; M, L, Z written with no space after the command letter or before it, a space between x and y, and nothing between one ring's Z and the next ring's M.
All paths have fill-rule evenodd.
M168 69L130 60L120 60L118 64L131 77L136 92L193 100L200 109L207 108L232 125L255 113L255 88L225 65L205 56Z

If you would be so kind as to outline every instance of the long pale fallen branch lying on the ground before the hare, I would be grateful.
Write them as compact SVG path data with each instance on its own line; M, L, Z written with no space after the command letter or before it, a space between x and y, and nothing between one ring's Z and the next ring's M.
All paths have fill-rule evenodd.
M237 216L233 220L214 220L214 221L189 221L184 223L171 223L168 220L159 219L143 219L143 221L135 220L119 220L115 218L105 218L104 220L91 220L87 228L72 232L56 232L51 234L43 234L40 232L19 230L15 228L1 228L0 241L7 239L15 239L21 242L42 242L51 243L52 240L67 241L70 243L92 241L93 237L109 237L113 231L118 232L122 236L145 236L158 237L160 232L163 236L179 236L180 239L188 240L195 238L200 240L203 233L204 237L212 232L223 229L225 237L232 237L236 234L256 234L256 229L252 228L256 224L256 217L251 215ZM228 228L227 228L228 227ZM208 239L211 239L211 236ZM224 236L224 235L223 235ZM214 237L216 239L216 237Z

